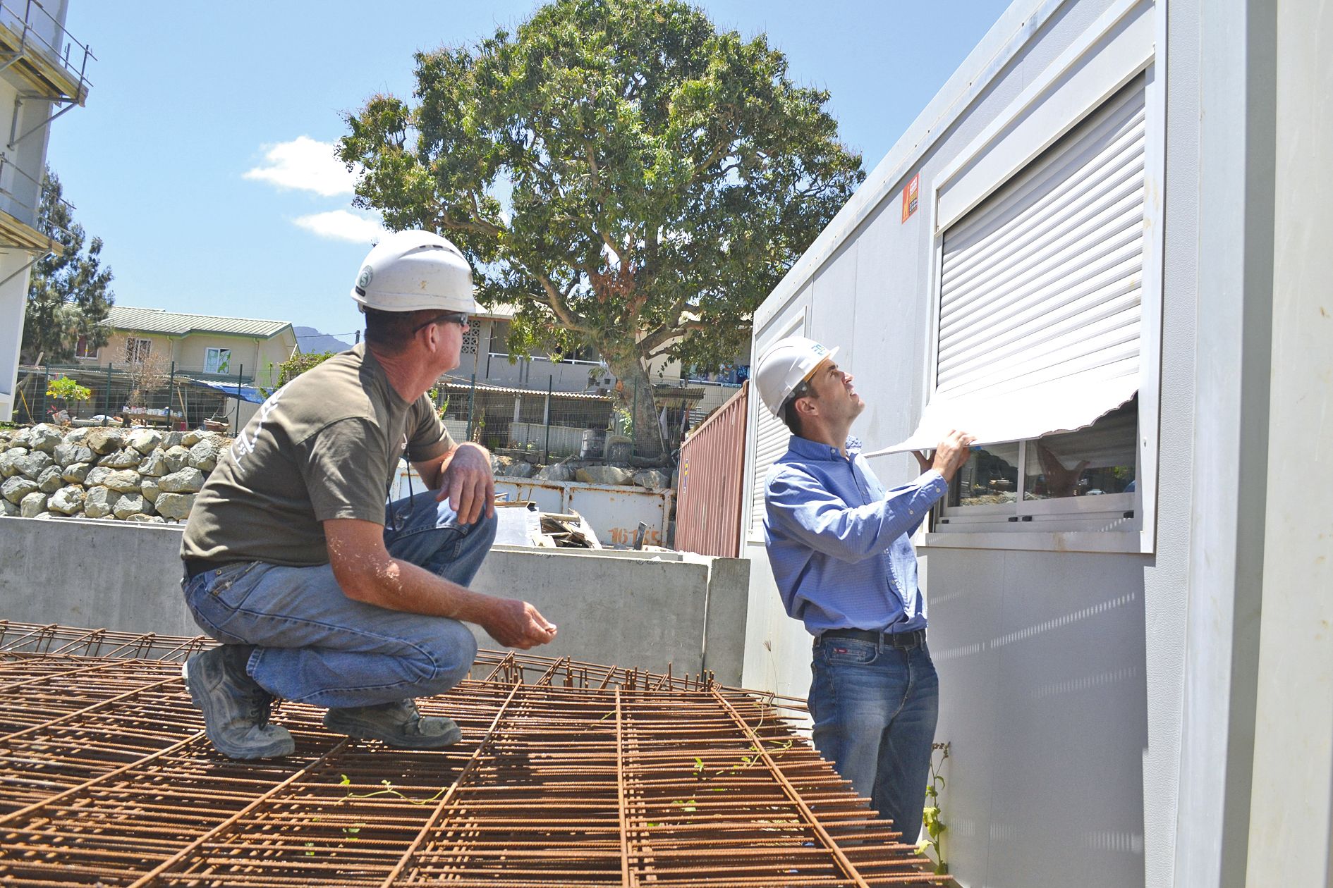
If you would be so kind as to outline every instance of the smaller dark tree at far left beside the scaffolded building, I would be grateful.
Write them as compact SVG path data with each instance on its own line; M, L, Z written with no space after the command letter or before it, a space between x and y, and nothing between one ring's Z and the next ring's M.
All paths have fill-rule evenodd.
M59 244L60 252L32 268L21 357L69 361L79 337L88 337L89 347L107 343L111 330L103 321L116 297L109 289L111 268L101 266L101 238L87 241L83 225L73 218L73 208L64 201L60 178L49 166L41 186L37 230Z

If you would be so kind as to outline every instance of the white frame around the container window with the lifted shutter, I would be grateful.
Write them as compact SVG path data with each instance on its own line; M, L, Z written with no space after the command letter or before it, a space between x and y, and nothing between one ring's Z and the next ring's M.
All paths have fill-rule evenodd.
M930 322L922 403L936 391L944 233L1002 188L1041 152L1094 112L1121 87L1145 75L1144 254L1140 326L1138 438L1133 494L1022 499L1026 442L1020 445L1013 505L937 506L938 521L920 545L1052 551L1156 551L1158 386L1161 365L1162 229L1166 138L1165 0L1120 0L1038 75L958 157L929 184ZM997 145L1004 150L992 150ZM922 184L924 185L924 184ZM925 192L925 188L922 188ZM948 194L941 201L941 193ZM1109 502L1105 497L1116 497ZM1128 506L1120 509L1120 506ZM1125 518L1125 513L1133 518ZM1117 517L1118 515L1118 517ZM1013 517L1016 521L1009 521Z

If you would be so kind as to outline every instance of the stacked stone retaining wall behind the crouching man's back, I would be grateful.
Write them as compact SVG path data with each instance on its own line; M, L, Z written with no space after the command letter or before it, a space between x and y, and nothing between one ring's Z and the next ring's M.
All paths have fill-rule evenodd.
M212 431L0 429L0 514L184 522L228 446Z

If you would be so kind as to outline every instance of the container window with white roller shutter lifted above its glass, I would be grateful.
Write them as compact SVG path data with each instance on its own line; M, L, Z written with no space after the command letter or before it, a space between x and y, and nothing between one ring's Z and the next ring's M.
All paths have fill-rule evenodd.
M1140 75L942 233L933 393L888 449L978 437L937 530L1137 530L1144 194Z

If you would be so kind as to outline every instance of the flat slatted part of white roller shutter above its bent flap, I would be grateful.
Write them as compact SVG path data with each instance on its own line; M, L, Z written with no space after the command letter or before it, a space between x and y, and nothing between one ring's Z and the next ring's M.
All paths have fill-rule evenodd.
M1138 375L1144 81L945 232L936 398Z

